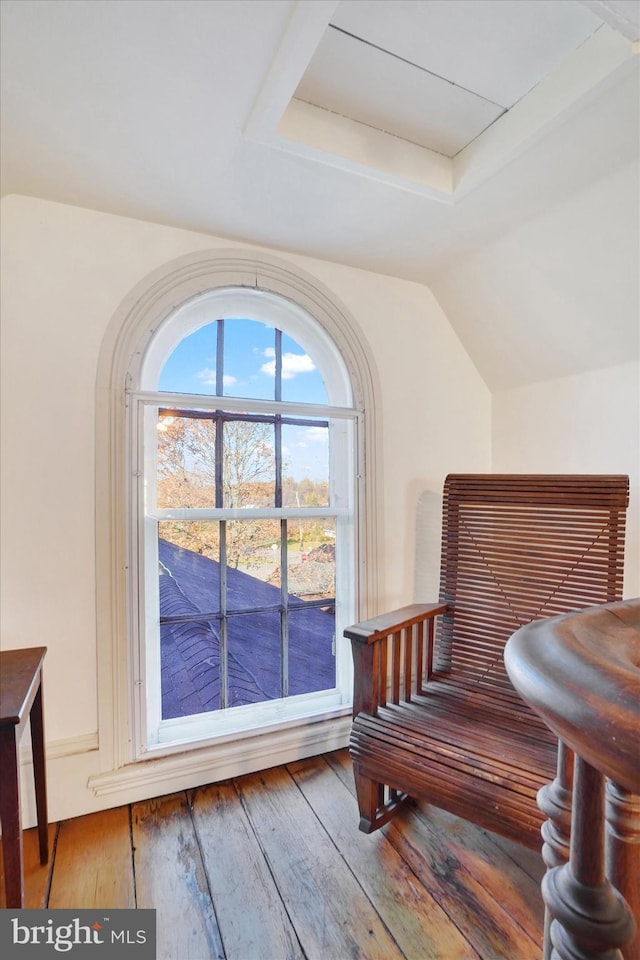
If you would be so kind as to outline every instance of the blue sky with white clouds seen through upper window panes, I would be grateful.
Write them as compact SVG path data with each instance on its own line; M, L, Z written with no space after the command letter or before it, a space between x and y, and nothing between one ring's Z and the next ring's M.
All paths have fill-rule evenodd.
M273 400L275 385L273 327L255 320L225 321L224 395ZM158 389L170 393L215 395L216 324L209 323L182 340L160 374ZM282 399L326 403L320 373L299 344L282 335ZM285 427L283 456L296 480L327 480L328 431L321 427Z

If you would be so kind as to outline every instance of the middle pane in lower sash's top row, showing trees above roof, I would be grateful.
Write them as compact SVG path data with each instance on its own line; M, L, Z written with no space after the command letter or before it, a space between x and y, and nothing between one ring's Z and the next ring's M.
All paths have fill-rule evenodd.
M247 610L280 605L280 521L229 520L227 607Z

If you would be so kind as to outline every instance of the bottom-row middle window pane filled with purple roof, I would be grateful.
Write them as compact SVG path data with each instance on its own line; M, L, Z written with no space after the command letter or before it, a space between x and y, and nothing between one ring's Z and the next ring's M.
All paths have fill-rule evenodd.
M280 614L230 617L228 636L229 706L282 696Z

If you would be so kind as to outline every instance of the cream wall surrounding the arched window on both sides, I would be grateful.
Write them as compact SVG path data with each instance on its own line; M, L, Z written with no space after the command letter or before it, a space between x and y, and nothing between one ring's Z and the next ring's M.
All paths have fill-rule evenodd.
M96 797L95 394L119 304L162 264L227 240L29 197L2 201L2 597L4 648L48 646L50 816ZM235 245L237 246L237 245ZM380 608L414 597L416 514L450 470L490 469L491 399L428 289L278 254L356 319L382 386ZM203 782L206 772L203 773ZM170 785L167 785L167 789ZM164 792L157 790L157 792ZM27 821L32 818L30 790ZM138 796L140 793L138 793Z

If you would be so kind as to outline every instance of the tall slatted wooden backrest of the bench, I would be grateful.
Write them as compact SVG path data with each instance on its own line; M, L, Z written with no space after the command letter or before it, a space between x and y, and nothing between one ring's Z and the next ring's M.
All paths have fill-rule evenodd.
M510 694L519 627L621 599L627 501L624 477L447 477L435 669Z

